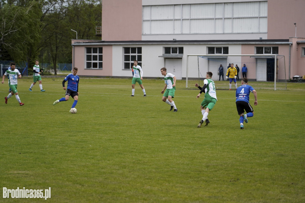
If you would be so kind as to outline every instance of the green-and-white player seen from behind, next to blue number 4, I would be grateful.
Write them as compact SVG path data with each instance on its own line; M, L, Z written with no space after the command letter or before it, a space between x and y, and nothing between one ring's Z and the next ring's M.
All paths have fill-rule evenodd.
M205 93L204 94L204 99L201 102L201 113L203 115L202 120L199 122L199 125L197 127L201 127L202 123L205 121L205 125L207 126L210 121L208 119L208 115L210 110L213 109L214 105L216 104L217 101L217 97L216 97L216 90L215 90L215 83L214 81L211 79L212 78L213 73L212 72L206 72L206 79L203 80L203 87L201 88L200 93L197 95L197 99L200 97L201 93ZM195 84L196 87L198 87L200 89L200 87L198 86L198 84ZM204 109L206 108L206 109Z

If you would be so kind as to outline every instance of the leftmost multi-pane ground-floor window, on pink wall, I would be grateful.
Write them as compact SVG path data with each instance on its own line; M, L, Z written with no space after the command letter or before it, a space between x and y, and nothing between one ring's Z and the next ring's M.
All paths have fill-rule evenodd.
M86 69L103 69L103 48L86 48Z

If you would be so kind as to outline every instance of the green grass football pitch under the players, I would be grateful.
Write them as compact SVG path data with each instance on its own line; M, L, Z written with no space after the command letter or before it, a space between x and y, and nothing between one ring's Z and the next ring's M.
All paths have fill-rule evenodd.
M251 94L254 116L240 130L235 91L217 90L210 124L197 128L204 96L184 80L173 112L163 80L143 80L147 97L138 84L130 97L131 79L81 77L71 114L73 98L52 105L63 78L43 77L45 92L19 79L24 106L5 104L0 84L1 187L51 187L48 202L305 202L305 84L259 89L257 106Z

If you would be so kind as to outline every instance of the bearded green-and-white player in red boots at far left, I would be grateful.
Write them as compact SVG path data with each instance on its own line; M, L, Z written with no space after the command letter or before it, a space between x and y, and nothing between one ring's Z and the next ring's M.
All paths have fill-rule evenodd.
M17 92L17 79L21 78L21 73L18 69L15 69L16 63L11 62L10 64L11 69L5 71L2 77L2 84L4 83L4 78L9 76L9 88L11 89L11 93L7 97L5 97L5 104L7 104L7 100L15 94L17 101L19 102L20 106L24 105L21 103L18 92Z

